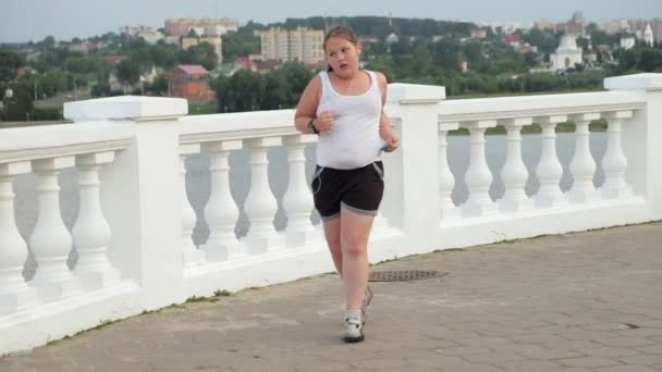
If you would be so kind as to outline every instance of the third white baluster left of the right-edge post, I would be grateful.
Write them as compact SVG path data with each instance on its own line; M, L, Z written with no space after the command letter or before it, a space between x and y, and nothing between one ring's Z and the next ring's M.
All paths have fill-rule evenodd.
M538 194L535 195L534 201L536 207L551 208L562 204L565 201L563 191L561 191L561 176L563 175L563 166L556 156L556 124L566 122L566 115L543 116L536 120L542 128L540 135L540 162L536 168L536 175L540 182Z

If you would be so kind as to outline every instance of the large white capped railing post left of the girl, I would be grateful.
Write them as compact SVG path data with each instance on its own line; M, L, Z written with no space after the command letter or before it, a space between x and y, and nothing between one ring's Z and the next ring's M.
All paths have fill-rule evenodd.
M64 106L74 122L112 121L134 131L130 146L101 169L101 204L112 232L110 261L140 286L145 309L185 299L176 119L187 109L185 99L132 96Z

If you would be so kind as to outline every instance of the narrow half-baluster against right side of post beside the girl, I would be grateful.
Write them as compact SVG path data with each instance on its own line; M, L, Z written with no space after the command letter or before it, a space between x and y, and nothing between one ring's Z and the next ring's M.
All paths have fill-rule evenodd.
M449 132L459 127L459 123L439 124L439 195L441 202L441 219L446 220L458 216L457 208L451 195L455 186L455 177L449 168Z

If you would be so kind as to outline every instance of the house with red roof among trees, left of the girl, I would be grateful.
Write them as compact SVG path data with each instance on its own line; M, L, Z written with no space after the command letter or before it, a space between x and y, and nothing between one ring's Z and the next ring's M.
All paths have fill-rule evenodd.
M197 101L216 98L209 88L209 71L199 64L180 64L170 72L170 96Z

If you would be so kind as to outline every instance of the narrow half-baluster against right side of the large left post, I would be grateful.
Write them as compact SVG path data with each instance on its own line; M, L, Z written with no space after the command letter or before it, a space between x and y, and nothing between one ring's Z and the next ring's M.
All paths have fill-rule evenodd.
M182 259L184 268L205 263L205 251L193 244L193 228L195 227L195 211L186 194L186 157L200 152L199 144L180 145L180 172L182 187Z

